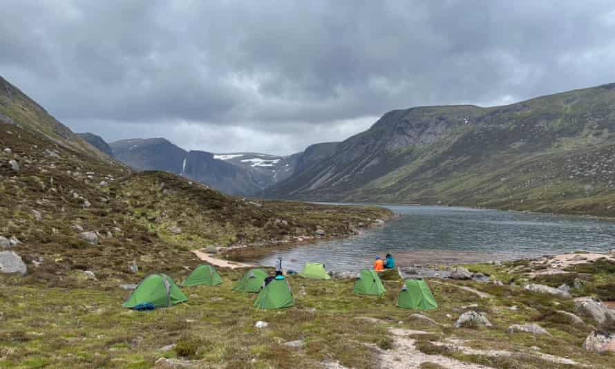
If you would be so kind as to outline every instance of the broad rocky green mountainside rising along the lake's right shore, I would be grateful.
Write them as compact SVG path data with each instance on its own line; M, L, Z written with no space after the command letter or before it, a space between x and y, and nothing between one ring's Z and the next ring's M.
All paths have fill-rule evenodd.
M615 215L615 84L390 111L269 198Z

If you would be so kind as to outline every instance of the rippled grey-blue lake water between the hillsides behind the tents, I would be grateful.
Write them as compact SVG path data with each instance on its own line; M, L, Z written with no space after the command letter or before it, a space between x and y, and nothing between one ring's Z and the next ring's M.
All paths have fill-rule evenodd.
M373 265L390 252L398 264L454 264L615 248L615 223L580 216L523 214L460 207L386 206L401 214L360 236L272 252L256 263L301 270L305 262L329 270Z

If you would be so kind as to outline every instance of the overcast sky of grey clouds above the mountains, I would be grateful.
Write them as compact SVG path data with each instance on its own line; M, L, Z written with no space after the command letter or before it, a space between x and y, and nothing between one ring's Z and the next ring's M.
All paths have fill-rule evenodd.
M361 4L363 3L363 4ZM615 1L0 0L0 75L74 131L287 154L393 108L615 82Z

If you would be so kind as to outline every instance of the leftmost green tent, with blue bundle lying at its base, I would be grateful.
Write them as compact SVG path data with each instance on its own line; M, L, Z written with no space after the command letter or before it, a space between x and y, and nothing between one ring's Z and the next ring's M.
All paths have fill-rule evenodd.
M184 301L188 301L188 298L173 282L173 278L166 274L152 274L140 283L122 307L132 309L140 304L151 303L156 308L162 308Z

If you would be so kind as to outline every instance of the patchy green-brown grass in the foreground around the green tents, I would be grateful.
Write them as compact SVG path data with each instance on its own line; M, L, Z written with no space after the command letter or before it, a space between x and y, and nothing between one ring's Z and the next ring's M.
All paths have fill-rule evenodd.
M555 310L574 311L570 301L525 292L520 288L464 283L492 294L479 299L455 283L430 283L439 309L425 312L441 326L410 319L410 310L396 308L401 281L384 281L383 297L352 294L351 280L312 281L291 277L296 306L257 312L254 295L231 291L243 271L220 271L218 287L186 288L190 301L153 312L121 308L130 292L115 285L91 281L84 288L47 288L20 278L3 277L0 284L0 367L2 368L150 368L160 357L198 360L212 368L313 368L322 361L339 361L354 368L374 368L378 353L369 344L392 348L387 327L426 330L418 348L462 361L497 368L558 368L531 352L569 357L580 364L609 368L613 355L589 354L580 347L592 328L571 327ZM178 278L181 281L185 275ZM44 293L44 299L41 294ZM452 328L464 305L476 303L494 327L474 330ZM518 306L518 310L511 310ZM451 314L449 319L446 314ZM370 321L370 317L380 319ZM254 327L267 321L265 329ZM401 323L399 323L401 321ZM509 334L513 323L538 323L553 337ZM468 355L450 348L435 348L430 341L464 339L477 349L525 353L516 359ZM282 343L301 339L302 349ZM175 350L160 348L176 343ZM514 365L513 365L514 364ZM429 368L429 366L424 366ZM568 368L569 366L566 366Z

